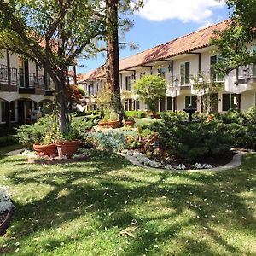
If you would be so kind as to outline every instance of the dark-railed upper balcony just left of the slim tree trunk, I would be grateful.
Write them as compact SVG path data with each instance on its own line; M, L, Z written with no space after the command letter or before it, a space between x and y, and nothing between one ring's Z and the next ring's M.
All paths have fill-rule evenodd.
M26 76L24 73L20 73L19 78L20 94L39 94L52 96L54 93L54 90L51 86L51 80L49 78L45 78L44 75L29 73L28 76Z

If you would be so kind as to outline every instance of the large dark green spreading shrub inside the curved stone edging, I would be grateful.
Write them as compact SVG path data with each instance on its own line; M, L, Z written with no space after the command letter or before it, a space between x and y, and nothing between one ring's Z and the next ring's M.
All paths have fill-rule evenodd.
M152 128L159 133L160 147L178 159L194 161L224 154L233 144L227 126L218 119L189 124L180 113L164 113L162 118Z

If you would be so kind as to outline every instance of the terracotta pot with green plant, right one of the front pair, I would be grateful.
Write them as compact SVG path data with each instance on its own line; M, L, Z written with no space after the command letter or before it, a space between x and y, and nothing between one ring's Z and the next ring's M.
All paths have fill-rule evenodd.
M71 128L66 134L62 134L61 137L56 141L57 151L59 157L72 158L73 154L76 154L80 141L78 140L78 131Z

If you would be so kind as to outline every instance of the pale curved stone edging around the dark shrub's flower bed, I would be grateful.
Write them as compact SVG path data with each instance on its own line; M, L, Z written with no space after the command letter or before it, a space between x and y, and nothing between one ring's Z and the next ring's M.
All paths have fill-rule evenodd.
M242 154L246 154L246 153L236 153L232 160L230 160L230 162L224 166L218 166L218 167L214 167L212 169L193 169L193 170L167 170L167 169L161 169L161 168L154 168L154 167L148 167L148 166L143 166L135 157L128 155L128 154L121 154L123 157L125 157L125 159L129 160L131 162L131 164L135 165L135 166L140 166L143 167L145 169L151 169L151 170L157 170L157 171L169 171L169 172L219 172L219 171L226 171L226 170L230 170L233 168L236 168L238 166L241 165L241 155Z

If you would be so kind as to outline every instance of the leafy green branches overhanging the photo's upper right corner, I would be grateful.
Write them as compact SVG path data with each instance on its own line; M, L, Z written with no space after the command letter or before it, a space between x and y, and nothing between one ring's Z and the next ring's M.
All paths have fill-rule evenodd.
M222 55L216 70L223 74L256 63L256 51L247 49L247 45L256 39L256 1L227 0L225 3L231 10L230 24L224 31L216 32L217 37L212 39L212 44Z

